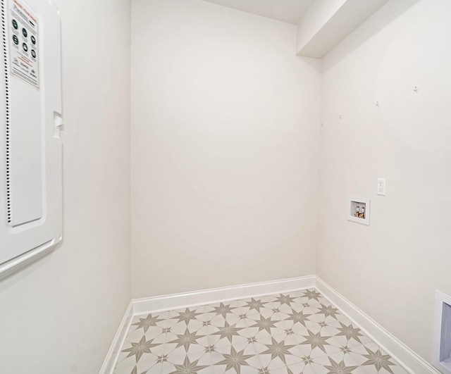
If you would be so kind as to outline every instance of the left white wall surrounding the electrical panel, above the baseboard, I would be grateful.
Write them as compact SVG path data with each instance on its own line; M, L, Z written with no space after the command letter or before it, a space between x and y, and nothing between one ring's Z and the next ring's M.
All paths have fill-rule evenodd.
M0 281L1 373L98 373L130 301L130 3L58 6L64 239Z

